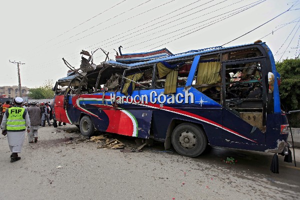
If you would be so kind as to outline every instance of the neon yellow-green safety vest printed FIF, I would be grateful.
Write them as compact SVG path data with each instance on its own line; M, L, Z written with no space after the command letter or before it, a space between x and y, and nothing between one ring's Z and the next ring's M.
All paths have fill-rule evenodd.
M6 122L6 129L8 131L23 131L26 128L23 113L25 109L22 107L8 108L8 117Z

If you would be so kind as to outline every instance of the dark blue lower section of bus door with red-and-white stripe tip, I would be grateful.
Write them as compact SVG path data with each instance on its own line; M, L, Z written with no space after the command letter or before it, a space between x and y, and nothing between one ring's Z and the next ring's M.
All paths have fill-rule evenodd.
M223 108L223 145L230 148L263 150L265 133Z

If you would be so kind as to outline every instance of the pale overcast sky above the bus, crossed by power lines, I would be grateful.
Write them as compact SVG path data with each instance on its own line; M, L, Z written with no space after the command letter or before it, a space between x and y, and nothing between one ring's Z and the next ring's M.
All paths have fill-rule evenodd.
M114 59L120 45L122 53L179 53L261 39L275 60L300 52L300 0L14 0L1 7L0 86L18 85L9 60L24 63L21 85L34 88L66 76L62 57L78 68L82 49L102 48ZM95 64L104 59L94 52Z

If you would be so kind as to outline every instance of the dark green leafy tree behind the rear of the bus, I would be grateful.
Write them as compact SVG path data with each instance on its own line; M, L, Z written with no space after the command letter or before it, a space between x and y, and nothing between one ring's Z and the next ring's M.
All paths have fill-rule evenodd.
M279 94L285 111L300 109L300 59L284 59L276 62L281 77ZM299 127L300 112L288 116L292 127Z

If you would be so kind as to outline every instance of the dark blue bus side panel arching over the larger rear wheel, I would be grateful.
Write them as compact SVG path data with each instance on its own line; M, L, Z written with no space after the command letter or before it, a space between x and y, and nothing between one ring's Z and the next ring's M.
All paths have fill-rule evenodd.
M165 139L166 130L172 120L177 122L190 122L199 124L207 136L210 145L220 146L222 137L222 110L221 109L201 109L187 108L166 110L153 110L153 136L157 139ZM180 111L182 110L182 112Z

